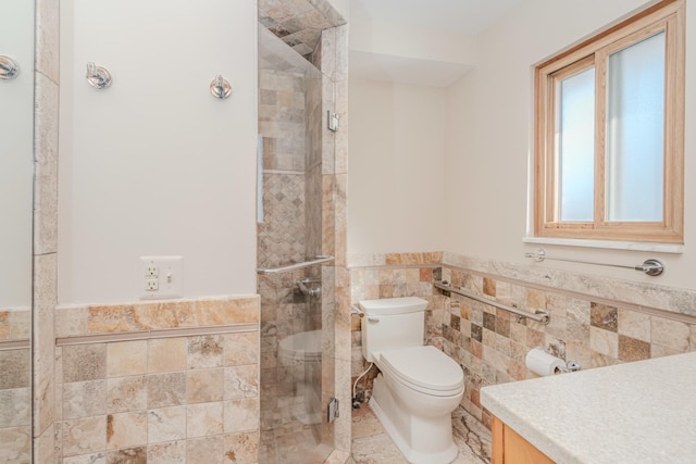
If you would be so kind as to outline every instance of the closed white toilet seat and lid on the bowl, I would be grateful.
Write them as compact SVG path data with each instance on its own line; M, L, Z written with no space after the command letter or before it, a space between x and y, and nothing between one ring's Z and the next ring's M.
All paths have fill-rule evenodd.
M434 397L459 394L464 386L459 364L431 346L385 350L378 367L405 386Z

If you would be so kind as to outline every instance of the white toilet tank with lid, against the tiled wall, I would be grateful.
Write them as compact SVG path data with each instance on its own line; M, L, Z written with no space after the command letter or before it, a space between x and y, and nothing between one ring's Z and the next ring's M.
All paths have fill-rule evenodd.
M417 297L363 300L362 355L375 362L375 353L395 348L420 347L425 330L427 301Z

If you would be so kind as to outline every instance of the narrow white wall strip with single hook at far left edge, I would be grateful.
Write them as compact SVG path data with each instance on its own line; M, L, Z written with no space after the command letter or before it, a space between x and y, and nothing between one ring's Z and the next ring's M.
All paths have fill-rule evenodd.
M32 304L34 2L0 2L0 54L20 74L0 80L0 310Z

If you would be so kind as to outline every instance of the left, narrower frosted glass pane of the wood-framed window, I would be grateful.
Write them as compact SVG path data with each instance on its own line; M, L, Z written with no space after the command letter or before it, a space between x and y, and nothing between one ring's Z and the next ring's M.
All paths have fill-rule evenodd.
M563 79L559 100L559 217L591 222L595 191L595 68Z

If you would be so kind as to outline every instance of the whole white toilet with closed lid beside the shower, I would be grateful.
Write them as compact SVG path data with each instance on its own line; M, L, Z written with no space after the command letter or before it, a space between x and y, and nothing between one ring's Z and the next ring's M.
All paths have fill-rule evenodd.
M435 347L423 346L427 301L388 298L361 301L362 355L380 371L370 406L413 464L451 463L451 412L464 394L464 374Z

